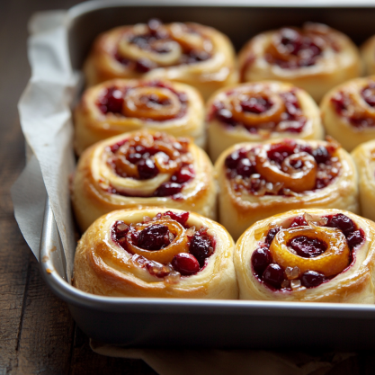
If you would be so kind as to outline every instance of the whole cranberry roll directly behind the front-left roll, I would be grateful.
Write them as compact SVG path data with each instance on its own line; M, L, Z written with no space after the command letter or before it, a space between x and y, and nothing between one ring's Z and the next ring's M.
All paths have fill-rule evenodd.
M85 150L72 183L72 201L82 230L104 213L139 205L215 218L213 166L188 138L146 130L125 133Z

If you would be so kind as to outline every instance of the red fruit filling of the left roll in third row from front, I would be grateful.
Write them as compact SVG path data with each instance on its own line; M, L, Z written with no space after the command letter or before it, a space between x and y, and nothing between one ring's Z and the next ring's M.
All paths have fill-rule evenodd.
M171 85L155 80L137 86L106 87L96 105L103 114L115 113L142 121L170 121L183 117L188 98Z

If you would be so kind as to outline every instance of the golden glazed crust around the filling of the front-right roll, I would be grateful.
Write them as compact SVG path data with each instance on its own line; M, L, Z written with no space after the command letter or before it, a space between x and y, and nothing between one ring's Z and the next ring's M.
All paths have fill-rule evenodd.
M332 280L315 288L299 288L290 291L275 291L267 288L254 276L250 259L259 241L259 233L268 231L269 226L282 225L286 220L307 212L310 215L327 216L344 213L353 219L358 228L362 228L365 241L354 248L355 262L349 268L337 274ZM257 234L254 236L254 234ZM255 237L257 237L255 239ZM343 303L374 303L375 275L375 224L352 212L344 210L291 210L268 219L258 221L248 228L237 241L235 266L237 272L240 299L283 300L300 302L343 302Z

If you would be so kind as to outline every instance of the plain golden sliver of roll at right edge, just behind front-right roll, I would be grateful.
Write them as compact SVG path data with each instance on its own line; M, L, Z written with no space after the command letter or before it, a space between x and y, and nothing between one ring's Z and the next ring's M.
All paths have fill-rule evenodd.
M355 147L352 156L358 171L362 216L375 221L375 139Z

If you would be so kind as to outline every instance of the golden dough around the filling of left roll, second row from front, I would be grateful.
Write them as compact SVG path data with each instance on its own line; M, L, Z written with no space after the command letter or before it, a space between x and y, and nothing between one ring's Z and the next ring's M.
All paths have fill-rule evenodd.
M182 191L182 199L172 197L141 197L122 196L108 192L108 187L116 181L123 188L139 190L139 195L145 195L145 190L152 192L165 181L169 174L158 174L155 178L135 183L129 178L121 178L111 171L107 165L105 148L131 138L137 134L157 134L155 132L130 132L121 136L98 142L85 150L80 157L72 186L72 203L76 220L82 230L91 225L95 219L112 210L136 208L139 206L170 207L180 210L194 210L211 219L216 217L216 183L213 176L213 166L207 154L192 142L189 152L192 154L192 165L195 176ZM160 134L160 133L159 133Z

